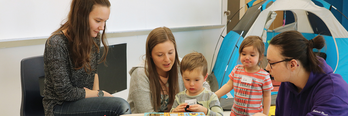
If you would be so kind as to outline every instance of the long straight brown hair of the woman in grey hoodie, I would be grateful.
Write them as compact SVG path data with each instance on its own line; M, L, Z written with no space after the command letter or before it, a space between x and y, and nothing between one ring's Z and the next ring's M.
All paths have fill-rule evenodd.
M167 27L159 27L153 29L146 40L146 59L145 66L148 66L148 72L145 70L146 75L149 78L150 83L150 99L152 99L152 106L156 112L161 106L161 94L164 94L162 91L160 77L156 70L156 65L153 62L151 56L152 49L157 44L171 41L174 44L175 48L175 61L173 63L172 69L168 72L168 84L169 84L169 103L173 103L175 100L175 95L179 93L179 85L178 85L178 70L177 67L180 66L179 56L177 55L176 42L172 31ZM165 88L166 89L166 88ZM164 103L164 102L163 102Z

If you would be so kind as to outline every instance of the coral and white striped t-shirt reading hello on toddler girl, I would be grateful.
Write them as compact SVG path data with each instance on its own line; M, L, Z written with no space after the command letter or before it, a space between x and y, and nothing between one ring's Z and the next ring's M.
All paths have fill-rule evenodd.
M231 116L252 116L262 112L262 92L273 89L269 73L262 68L255 73L248 73L244 65L236 65L229 75L235 91Z

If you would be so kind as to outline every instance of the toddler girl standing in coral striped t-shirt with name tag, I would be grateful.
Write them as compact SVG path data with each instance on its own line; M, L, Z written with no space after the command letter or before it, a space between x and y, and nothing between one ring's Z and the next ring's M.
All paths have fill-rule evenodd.
M260 37L246 37L239 47L243 65L236 65L229 75L230 80L215 92L220 98L234 88L235 98L230 116L252 116L258 112L268 115L273 86L269 73L260 67L263 52L264 44Z

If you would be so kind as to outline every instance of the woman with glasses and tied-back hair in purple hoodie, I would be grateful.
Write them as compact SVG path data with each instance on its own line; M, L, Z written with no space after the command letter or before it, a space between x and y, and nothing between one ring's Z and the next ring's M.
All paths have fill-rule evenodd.
M282 32L270 41L266 70L282 82L276 116L348 116L348 84L313 52L324 46L322 36L307 40L297 31Z

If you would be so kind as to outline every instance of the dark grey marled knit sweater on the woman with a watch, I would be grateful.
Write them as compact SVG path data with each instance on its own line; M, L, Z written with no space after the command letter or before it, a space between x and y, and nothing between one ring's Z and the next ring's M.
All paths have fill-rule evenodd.
M61 32L62 33L62 32ZM93 38L100 47L100 36ZM42 103L46 116L53 116L53 107L62 104L64 101L76 101L85 98L83 87L93 89L94 76L97 74L99 52L91 45L91 73L84 68L75 70L69 54L68 38L64 34L57 34L46 41L45 61L45 89Z

